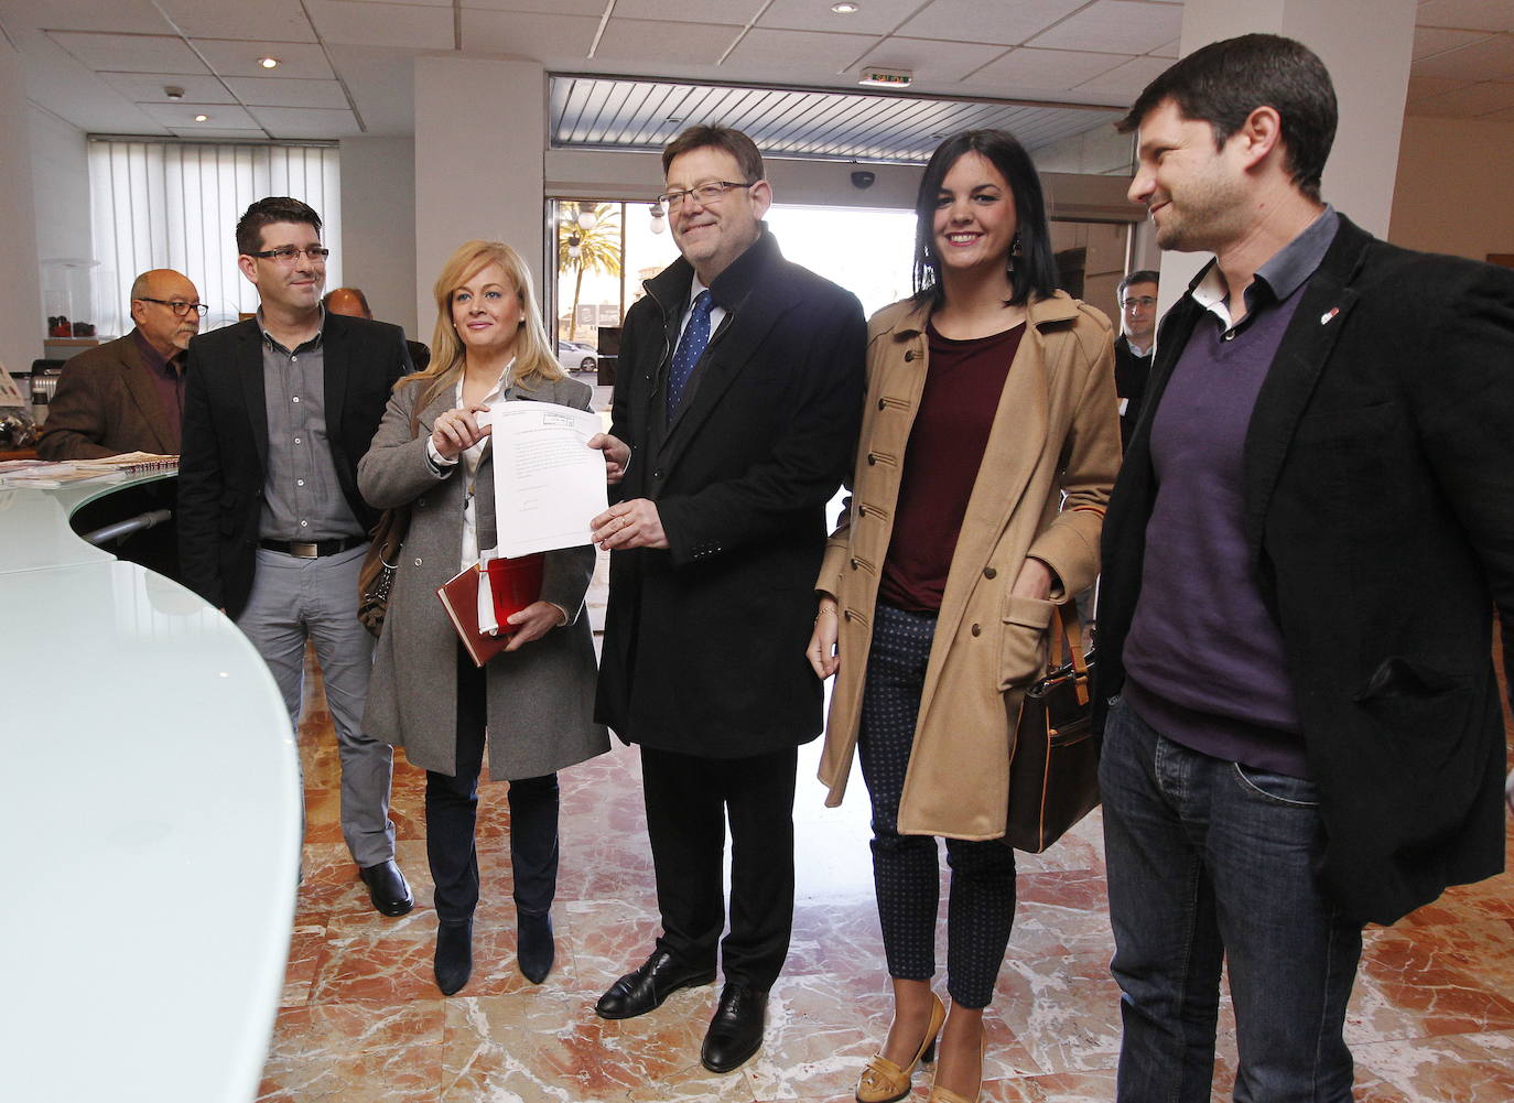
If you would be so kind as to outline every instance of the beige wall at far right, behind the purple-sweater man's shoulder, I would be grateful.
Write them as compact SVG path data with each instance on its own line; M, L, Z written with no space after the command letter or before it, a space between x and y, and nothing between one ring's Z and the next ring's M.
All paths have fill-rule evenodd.
M1514 253L1514 123L1407 118L1388 241L1487 260Z

